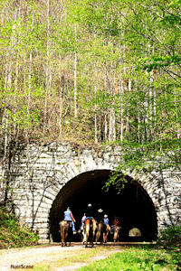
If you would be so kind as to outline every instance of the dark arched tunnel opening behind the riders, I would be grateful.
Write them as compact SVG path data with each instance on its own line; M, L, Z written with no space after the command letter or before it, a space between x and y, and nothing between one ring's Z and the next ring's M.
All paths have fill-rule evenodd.
M59 222L63 220L63 212L67 207L76 220L75 228L80 229L81 217L88 203L91 203L95 213L103 209L110 219L110 225L116 215L120 220L122 235L119 241L151 241L157 237L157 213L153 201L138 182L127 176L124 189L118 192L110 187L109 192L102 190L110 178L110 170L96 170L81 173L67 182L58 193L50 210L50 232L54 242L60 242ZM141 232L138 238L129 236L130 229L137 228ZM81 241L78 235L74 241Z

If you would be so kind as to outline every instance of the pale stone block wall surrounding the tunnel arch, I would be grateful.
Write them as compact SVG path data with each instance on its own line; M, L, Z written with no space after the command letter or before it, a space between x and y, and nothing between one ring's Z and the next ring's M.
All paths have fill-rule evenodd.
M71 145L32 145L16 161L12 191L15 211L22 223L38 230L45 241L49 235L48 217L52 202L67 182L75 176L94 170L114 170L119 150L106 148L80 150ZM14 167L15 168L15 167ZM165 223L181 221L181 173L157 169L149 176L128 173L148 192L157 210L158 230ZM9 197L12 197L10 192Z

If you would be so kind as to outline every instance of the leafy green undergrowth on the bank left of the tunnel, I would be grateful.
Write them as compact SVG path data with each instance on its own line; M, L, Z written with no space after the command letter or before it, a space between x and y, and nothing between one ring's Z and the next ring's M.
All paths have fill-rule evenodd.
M0 209L0 248L18 248L37 244L38 236L30 229L20 227L14 214Z

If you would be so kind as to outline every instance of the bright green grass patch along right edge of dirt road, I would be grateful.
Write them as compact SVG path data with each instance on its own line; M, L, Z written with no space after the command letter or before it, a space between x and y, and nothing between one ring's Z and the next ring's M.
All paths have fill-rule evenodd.
M181 256L176 252L167 253L166 250L154 248L128 248L79 270L171 271L181 270L180 263Z

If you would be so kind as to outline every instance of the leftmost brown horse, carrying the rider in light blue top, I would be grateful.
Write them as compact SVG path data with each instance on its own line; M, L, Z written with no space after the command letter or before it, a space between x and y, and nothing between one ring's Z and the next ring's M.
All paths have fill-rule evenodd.
M60 233L62 240L62 247L67 246L67 242L71 247L72 226L71 221L62 220L60 222Z

